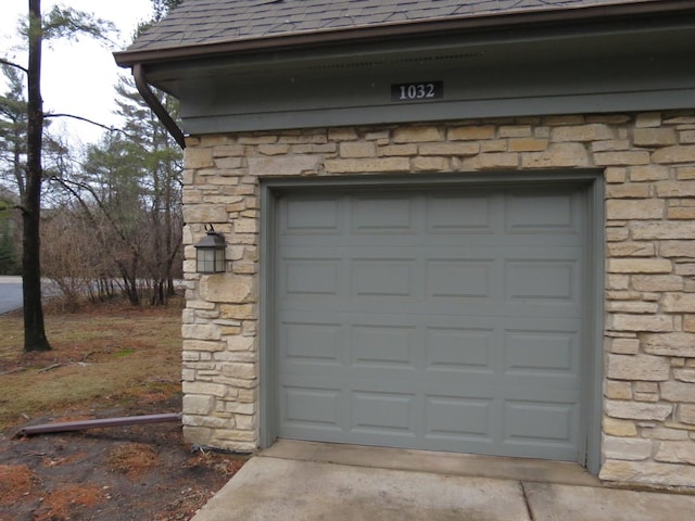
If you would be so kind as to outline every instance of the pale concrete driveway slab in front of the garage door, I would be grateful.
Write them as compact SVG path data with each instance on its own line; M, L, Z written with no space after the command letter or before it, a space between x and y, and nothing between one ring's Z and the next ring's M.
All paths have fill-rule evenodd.
M695 496L606 488L578 465L279 441L192 521L659 521Z

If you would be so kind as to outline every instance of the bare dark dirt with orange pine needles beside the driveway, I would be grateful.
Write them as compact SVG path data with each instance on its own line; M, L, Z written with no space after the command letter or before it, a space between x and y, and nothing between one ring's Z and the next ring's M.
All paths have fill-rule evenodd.
M99 416L178 412L179 401ZM75 412L61 421L93 418ZM0 521L189 520L245 460L191 452L178 422L11 434L0 436Z

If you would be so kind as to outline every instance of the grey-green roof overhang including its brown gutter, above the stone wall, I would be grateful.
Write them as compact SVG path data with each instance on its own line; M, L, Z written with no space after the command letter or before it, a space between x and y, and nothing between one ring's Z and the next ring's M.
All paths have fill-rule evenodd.
M186 134L692 109L695 0L636 0L116 53ZM431 103L393 86L443 80ZM147 98L146 98L147 99ZM163 107L151 106L162 113ZM182 134L160 117L182 142Z

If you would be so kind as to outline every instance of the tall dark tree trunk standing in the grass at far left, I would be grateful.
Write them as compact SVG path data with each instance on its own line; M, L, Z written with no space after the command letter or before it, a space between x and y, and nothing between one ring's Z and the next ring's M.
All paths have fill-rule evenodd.
M41 214L41 149L43 100L41 99L41 1L29 0L29 62L27 109L27 173L23 209L24 351L49 351L41 307L41 263L39 221Z

